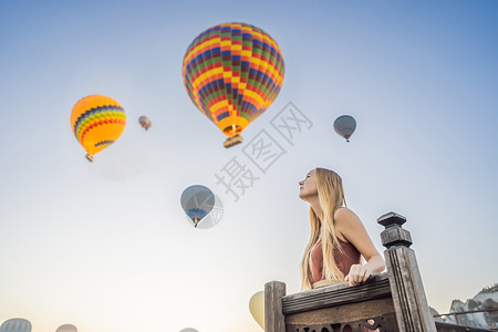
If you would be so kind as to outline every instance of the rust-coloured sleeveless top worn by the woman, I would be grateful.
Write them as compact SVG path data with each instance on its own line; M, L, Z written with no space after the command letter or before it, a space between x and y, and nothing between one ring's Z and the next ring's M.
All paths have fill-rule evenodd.
M361 253L357 251L353 243L343 241L340 238L339 246L341 246L342 251L339 248L334 248L333 256L335 264L339 270L345 276L350 273L352 264L359 264L361 262ZM322 276L323 272L323 252L322 252L322 241L319 240L317 245L311 250L311 283L315 283L320 280L325 279Z

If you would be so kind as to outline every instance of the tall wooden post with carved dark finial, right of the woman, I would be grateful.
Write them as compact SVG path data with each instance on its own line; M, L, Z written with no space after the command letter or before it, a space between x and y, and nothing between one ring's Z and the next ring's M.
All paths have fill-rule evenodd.
M415 252L409 249L412 237L402 228L406 218L395 212L381 216L377 222L385 227L381 234L396 320L402 332L435 332L422 284Z

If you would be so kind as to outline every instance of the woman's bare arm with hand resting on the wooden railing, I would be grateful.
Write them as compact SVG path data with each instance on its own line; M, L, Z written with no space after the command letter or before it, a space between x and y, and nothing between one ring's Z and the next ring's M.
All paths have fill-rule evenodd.
M347 208L339 208L334 214L334 220L338 236L353 243L366 260L366 264L353 264L344 280L352 286L382 272L385 269L384 258L375 249L360 218Z

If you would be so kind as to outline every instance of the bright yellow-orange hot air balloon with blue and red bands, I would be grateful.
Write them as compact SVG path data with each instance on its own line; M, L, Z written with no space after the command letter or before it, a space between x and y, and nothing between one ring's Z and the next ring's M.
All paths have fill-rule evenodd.
M126 115L118 102L105 95L81 98L71 113L71 128L86 151L86 158L113 144L123 133Z

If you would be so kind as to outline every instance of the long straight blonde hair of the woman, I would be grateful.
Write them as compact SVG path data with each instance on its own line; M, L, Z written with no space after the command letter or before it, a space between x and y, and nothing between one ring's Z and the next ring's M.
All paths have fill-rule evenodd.
M310 206L311 236L301 261L302 290L312 289L311 251L319 240L322 241L323 253L322 278L331 280L334 283L344 281L344 274L335 264L333 256L334 248L342 250L341 246L339 246L334 227L335 210L342 206L346 206L342 179L339 174L333 170L325 168L315 168L315 170L318 196L323 215L317 216ZM324 227L324 236L320 239L322 226Z

